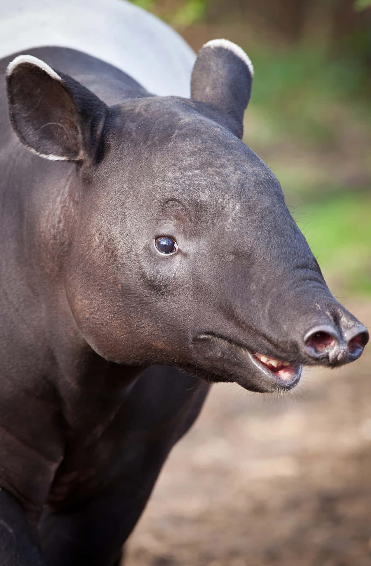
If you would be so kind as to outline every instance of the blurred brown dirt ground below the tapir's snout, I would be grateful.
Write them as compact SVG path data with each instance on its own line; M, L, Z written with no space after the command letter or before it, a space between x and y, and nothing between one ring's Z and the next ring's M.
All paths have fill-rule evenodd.
M371 326L371 302L346 306ZM369 346L283 397L213 386L125 564L371 566L370 367Z

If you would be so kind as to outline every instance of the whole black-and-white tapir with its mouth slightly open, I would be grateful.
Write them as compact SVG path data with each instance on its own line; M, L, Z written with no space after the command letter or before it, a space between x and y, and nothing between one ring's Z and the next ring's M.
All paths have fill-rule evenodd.
M212 40L195 58L103 8L102 58L86 33L41 33L0 61L2 566L117 566L212 383L287 391L368 341L242 141L247 55ZM108 60L128 21L131 74L120 46Z

